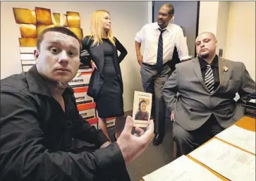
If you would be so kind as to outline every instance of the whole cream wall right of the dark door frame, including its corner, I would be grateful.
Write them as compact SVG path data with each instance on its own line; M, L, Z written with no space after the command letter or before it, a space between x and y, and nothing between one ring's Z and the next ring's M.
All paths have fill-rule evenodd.
M241 61L255 80L255 2L200 1L199 30L213 32L223 57Z

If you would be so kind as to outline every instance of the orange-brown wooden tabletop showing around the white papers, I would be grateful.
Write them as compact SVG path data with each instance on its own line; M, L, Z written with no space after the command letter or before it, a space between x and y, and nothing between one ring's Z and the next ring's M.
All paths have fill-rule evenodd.
M246 130L251 130L251 131L254 131L255 132L255 130L256 130L256 121L255 121L255 118L250 118L250 117L248 117L248 116L244 116L243 118L241 118L240 120L238 120L236 123L235 123L235 125L237 125L237 126L239 126L239 127L242 127L242 128L244 128L244 129L246 129ZM219 139L218 137L214 137L214 138L212 138L212 139ZM212 139L209 139L207 142L210 142ZM223 142L223 140L221 140L222 142ZM205 144L207 143L207 142L205 142ZM230 144L230 143L228 143L228 142L226 142L227 144ZM231 144L232 146L235 146L235 145L233 145L233 144ZM238 149L240 149L238 146L235 146L235 147L237 147ZM198 147L198 148L200 148L200 146ZM244 150L244 149L242 149L243 151L246 151L246 150ZM248 151L246 151L246 152L248 152ZM248 153L250 153L250 152L248 152ZM251 153L250 153L251 154ZM202 166L202 167L204 167L204 168L207 168L207 170L209 170L211 173L213 173L214 175L216 175L217 177L219 177L221 180L228 180L228 179L226 179L225 177L223 177L222 175L219 175L219 173L217 173L217 172L215 172L214 170L212 170L211 168L209 168L209 167L207 167L207 166L205 166L204 164L202 164L202 163L200 163L199 161L197 161L195 158L193 158L193 157L191 157L191 156L189 156L189 155L187 155L188 156L188 158L190 158L191 160L193 160L193 161L195 161L196 163L198 163L200 166ZM143 181L143 180L140 180L140 181Z

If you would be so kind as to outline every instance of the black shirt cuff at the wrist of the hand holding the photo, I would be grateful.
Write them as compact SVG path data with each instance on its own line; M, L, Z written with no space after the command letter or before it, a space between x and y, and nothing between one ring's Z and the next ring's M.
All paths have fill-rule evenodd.
M95 175L99 175L100 178L97 177L97 179L106 180L106 178L121 176L126 178L124 180L130 180L123 154L116 142L104 149L97 149L95 154L99 161Z

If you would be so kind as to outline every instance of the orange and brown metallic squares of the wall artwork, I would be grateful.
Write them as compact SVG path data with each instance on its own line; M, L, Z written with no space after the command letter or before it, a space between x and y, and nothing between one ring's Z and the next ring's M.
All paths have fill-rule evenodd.
M20 46L37 46L37 37L41 32L52 25L66 26L80 40L83 39L83 29L80 28L80 15L77 12L67 11L66 14L51 13L49 8L35 7L13 8L13 15L20 27Z

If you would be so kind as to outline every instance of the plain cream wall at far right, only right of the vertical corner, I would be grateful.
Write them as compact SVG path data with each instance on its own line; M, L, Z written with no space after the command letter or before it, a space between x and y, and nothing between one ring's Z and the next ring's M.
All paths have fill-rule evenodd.
M225 58L242 61L255 80L255 1L232 1Z

